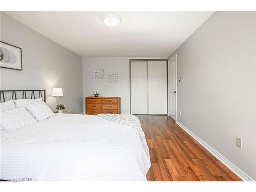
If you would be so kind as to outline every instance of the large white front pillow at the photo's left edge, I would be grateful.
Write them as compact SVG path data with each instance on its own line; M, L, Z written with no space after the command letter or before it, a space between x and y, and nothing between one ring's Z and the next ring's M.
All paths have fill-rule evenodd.
M34 117L23 107L1 111L1 125L5 131L15 131L36 123Z

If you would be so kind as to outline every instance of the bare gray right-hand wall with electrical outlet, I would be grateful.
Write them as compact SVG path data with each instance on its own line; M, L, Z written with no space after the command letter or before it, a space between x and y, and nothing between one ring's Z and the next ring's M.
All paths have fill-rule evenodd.
M178 121L254 180L255 16L215 12L169 56L178 54Z

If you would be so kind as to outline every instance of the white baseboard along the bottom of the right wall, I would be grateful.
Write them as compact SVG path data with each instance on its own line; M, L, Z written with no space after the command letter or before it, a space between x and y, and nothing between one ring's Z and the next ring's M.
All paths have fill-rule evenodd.
M198 137L196 134L191 132L187 127L185 127L183 124L181 124L179 121L176 121L176 123L185 131L187 132L191 137L193 137L195 140L197 140L201 145L203 145L204 148L206 148L207 151L209 151L212 155L214 155L217 159L219 159L224 165L226 165L234 174L236 174L238 177L240 177L243 181L254 181L252 178L250 178L247 174L245 174L240 168L238 168L236 165L231 163L229 160L227 160L225 157L223 157L219 152L217 152L214 148L212 148L210 145L208 145L206 142L204 142L200 137Z

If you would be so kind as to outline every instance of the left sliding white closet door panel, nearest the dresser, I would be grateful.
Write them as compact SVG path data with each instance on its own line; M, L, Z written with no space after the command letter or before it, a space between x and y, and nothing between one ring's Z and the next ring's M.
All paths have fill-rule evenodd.
M147 62L131 61L131 113L147 114Z

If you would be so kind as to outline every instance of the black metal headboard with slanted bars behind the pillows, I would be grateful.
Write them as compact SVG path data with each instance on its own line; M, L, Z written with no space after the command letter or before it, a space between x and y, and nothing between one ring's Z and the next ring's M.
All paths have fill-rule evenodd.
M1 101L6 101L5 94L9 93L11 94L11 99L37 99L42 97L44 101L46 102L46 90L41 89L41 90L0 90L0 102ZM17 97L18 93L20 93L20 97L22 94L22 98ZM43 95L44 94L44 95ZM27 95L29 98L27 98ZM38 95L38 97L37 97ZM31 97L30 97L31 96ZM10 98L10 97L9 97ZM10 100L10 99L8 99Z

